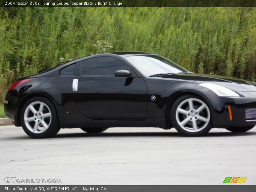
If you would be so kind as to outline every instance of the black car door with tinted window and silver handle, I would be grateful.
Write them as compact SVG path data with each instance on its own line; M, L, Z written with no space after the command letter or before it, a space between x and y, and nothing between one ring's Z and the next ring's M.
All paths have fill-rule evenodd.
M128 66L115 57L101 56L76 63L74 99L87 118L99 120L145 120L147 85L132 71L131 77L116 77Z

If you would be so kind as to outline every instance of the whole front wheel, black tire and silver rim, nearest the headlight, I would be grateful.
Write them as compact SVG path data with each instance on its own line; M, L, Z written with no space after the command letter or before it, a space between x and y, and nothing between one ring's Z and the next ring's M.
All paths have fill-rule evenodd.
M206 101L195 95L184 95L174 102L171 121L175 129L186 136L201 136L212 128Z

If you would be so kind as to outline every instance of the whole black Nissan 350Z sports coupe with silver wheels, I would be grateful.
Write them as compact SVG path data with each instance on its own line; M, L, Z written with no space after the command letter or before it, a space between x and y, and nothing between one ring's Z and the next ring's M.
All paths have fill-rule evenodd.
M211 128L245 132L256 124L256 84L194 74L160 55L112 52L68 61L20 78L5 115L33 138L60 128L160 127L199 136Z

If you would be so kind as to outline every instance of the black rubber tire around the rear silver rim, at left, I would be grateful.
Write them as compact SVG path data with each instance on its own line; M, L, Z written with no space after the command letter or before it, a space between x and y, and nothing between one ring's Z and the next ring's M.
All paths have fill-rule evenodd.
M42 133L34 133L29 130L29 128L25 124L24 120L24 114L26 108L33 102L43 102L46 104L51 112L51 121L49 122L49 127ZM45 118L46 119L46 118ZM20 113L20 122L23 130L27 133L28 136L35 138L35 139L42 139L42 138L50 138L56 135L60 131L60 124L59 124L59 119L58 115L56 113L56 110L53 106L53 104L46 98L44 97L33 97L29 99L22 107L21 113ZM39 125L40 126L40 125ZM41 125L42 127L42 125Z

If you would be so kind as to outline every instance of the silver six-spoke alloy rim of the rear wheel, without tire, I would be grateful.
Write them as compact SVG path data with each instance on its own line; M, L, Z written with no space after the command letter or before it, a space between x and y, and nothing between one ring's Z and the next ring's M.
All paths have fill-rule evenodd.
M52 121L50 108L41 101L28 105L24 113L24 122L29 131L33 133L45 132Z

